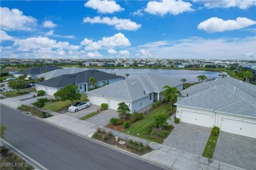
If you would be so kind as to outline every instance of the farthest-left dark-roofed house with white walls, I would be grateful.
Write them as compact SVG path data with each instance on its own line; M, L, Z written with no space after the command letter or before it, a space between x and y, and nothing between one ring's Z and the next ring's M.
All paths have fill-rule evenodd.
M33 67L30 69L26 69L24 71L18 71L17 73L14 73L13 76L18 78L19 76L27 75L27 79L31 77L32 79L36 79L37 75L40 75L42 73L47 73L49 71L54 71L56 69L62 69L60 67L56 67L53 65L45 65L43 67Z

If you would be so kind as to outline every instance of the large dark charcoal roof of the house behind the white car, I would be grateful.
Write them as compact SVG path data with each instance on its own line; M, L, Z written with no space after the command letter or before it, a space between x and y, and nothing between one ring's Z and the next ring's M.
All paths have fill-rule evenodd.
M97 81L112 80L117 78L125 78L124 76L112 75L104 71L98 71L96 69L89 69L75 74L61 75L38 82L38 85L48 86L53 88L62 88L68 84L79 84L79 83L91 83L89 78L93 76Z

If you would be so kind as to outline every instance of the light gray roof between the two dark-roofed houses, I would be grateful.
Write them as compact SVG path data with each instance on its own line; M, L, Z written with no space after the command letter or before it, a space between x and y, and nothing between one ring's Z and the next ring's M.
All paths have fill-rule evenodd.
M82 72L82 71L85 71L85 69L81 69L81 68L78 68L78 67L71 67L71 68L68 68L68 69L56 69L54 71L49 71L47 73L37 75L37 78L44 77L45 80L48 80L48 79L54 78L56 76L70 75L70 74L75 74L75 73L79 73L79 72Z

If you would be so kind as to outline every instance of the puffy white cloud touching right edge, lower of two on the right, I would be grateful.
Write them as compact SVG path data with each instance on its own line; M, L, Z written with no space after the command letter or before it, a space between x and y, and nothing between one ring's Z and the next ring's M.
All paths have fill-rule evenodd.
M216 33L230 31L234 29L241 29L254 24L256 24L256 22L253 20L249 20L248 18L238 17L236 18L236 20L224 21L221 18L213 17L205 20L204 22L201 22L198 25L198 29L203 29L203 31L206 31L207 33Z

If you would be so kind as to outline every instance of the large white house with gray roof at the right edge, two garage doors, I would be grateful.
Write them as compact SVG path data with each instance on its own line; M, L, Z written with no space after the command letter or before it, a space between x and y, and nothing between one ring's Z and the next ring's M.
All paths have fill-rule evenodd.
M256 138L256 86L225 77L183 90L176 117L181 122ZM181 98L181 99L180 99Z

